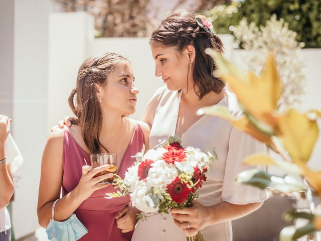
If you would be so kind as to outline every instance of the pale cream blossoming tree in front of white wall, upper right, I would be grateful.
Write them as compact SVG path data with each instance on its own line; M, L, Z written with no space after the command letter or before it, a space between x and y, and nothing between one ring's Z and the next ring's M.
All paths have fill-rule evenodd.
M248 24L244 18L238 26L232 26L231 30L237 45L246 50L246 58L243 58L245 71L251 70L260 75L265 56L273 52L282 85L278 109L284 110L299 103L305 75L304 64L299 59L298 52L304 43L295 40L296 33L288 29L288 24L283 19L277 20L276 15L260 27L254 22Z

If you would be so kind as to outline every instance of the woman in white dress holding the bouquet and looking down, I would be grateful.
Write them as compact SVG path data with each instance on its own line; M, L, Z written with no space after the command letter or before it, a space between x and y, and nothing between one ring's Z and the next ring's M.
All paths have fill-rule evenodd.
M215 65L206 48L223 52L217 35L201 27L192 11L176 12L162 21L150 38L155 75L166 83L156 91L142 116L150 125L150 147L175 134L184 147L205 152L216 149L200 198L193 207L172 209L138 221L133 241L184 241L200 230L207 241L232 240L231 221L258 209L266 191L234 183L235 176L253 168L242 164L244 157L264 152L264 145L237 131L225 119L197 115L204 106L225 105L234 116L241 115L235 94L213 77Z

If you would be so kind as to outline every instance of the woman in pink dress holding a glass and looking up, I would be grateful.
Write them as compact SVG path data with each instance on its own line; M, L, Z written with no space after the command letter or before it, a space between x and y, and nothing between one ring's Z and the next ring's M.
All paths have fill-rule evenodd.
M104 198L114 188L99 182L113 174L96 174L107 170L108 164L96 168L87 164L90 154L116 153L117 174L123 178L135 161L132 156L143 145L148 147L148 125L126 117L135 111L138 92L131 65L124 57L106 53L82 64L69 97L78 125L55 129L43 153L38 199L43 227L53 217L64 222L74 213L88 230L80 240L131 239L139 211L131 206L129 196Z

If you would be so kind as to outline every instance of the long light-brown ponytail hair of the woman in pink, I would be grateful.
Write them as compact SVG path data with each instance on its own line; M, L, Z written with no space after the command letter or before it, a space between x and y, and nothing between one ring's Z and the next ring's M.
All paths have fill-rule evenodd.
M127 59L114 53L100 54L86 59L78 70L76 88L68 98L70 108L78 117L77 124L80 126L84 142L91 153L103 152L102 148L108 152L99 141L102 112L95 83L106 86L107 76L123 60ZM76 105L74 104L75 95Z

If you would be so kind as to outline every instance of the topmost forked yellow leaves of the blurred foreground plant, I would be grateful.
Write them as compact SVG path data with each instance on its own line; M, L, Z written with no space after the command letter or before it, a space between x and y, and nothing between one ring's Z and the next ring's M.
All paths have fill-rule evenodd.
M230 89L237 95L244 108L259 121L272 128L276 121L273 112L281 95L280 78L272 54L269 54L262 77L253 72L245 76L237 67L229 63L220 53L207 49L215 61L218 77L229 83Z

